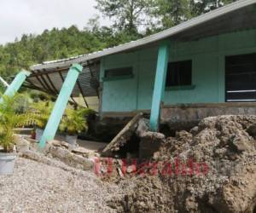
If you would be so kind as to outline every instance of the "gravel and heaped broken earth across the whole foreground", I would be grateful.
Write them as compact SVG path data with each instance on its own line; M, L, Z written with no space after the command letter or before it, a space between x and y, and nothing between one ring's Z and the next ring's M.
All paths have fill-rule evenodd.
M122 161L115 159L102 178L92 173L89 156L79 148L70 152L64 143L52 142L44 157L24 153L15 175L0 177L1 210L255 213L256 116L205 118L175 137L150 132L141 137L160 141L150 163L127 165L124 174ZM108 165L100 171L106 175Z

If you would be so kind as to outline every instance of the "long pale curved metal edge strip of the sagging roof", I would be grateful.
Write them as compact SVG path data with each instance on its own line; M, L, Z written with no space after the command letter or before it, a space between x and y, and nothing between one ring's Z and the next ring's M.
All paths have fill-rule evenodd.
M119 52L123 52L125 50L134 49L148 43L154 43L162 39L165 39L166 37L171 37L177 33L188 30L189 28L192 28L194 26L201 25L202 23L205 23L209 20L213 20L218 16L228 14L237 9L241 9L249 5L252 5L253 3L256 3L256 0L240 0L235 3L230 3L220 9L215 9L207 14L201 14L200 16L195 17L191 20L187 20L182 24L169 28L163 32L158 32L151 36L143 37L137 41L120 44L119 46L109 48L109 49L103 49L102 51L94 52L88 55L79 55L77 57L72 57L72 58L63 59L63 60L46 61L43 64L31 66L31 70L53 69L55 67L68 66L73 63L81 63L86 60L95 60L97 58L101 58L102 56L112 55Z

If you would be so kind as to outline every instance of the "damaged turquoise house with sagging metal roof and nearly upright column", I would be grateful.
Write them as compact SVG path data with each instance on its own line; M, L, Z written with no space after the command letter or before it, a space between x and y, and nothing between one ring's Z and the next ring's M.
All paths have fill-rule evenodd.
M72 87L70 101L80 95L85 106L98 102L108 125L138 112L150 115L153 131L214 115L256 114L256 1L237 1L90 55L32 66L25 86L58 95L73 64L83 70L65 85Z

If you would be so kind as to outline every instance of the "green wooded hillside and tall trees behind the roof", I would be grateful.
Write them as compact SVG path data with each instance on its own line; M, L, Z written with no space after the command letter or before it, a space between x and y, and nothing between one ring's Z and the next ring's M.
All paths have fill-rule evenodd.
M176 26L197 15L236 0L96 0L96 9L113 26L101 26L99 17L77 26L53 28L40 35L24 34L14 43L0 45L0 76L46 60L85 55Z

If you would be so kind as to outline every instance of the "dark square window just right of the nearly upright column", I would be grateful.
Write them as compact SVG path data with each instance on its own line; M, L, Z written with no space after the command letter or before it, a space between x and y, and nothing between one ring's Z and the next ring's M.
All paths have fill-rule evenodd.
M192 84L192 60L168 64L166 87L190 86Z

